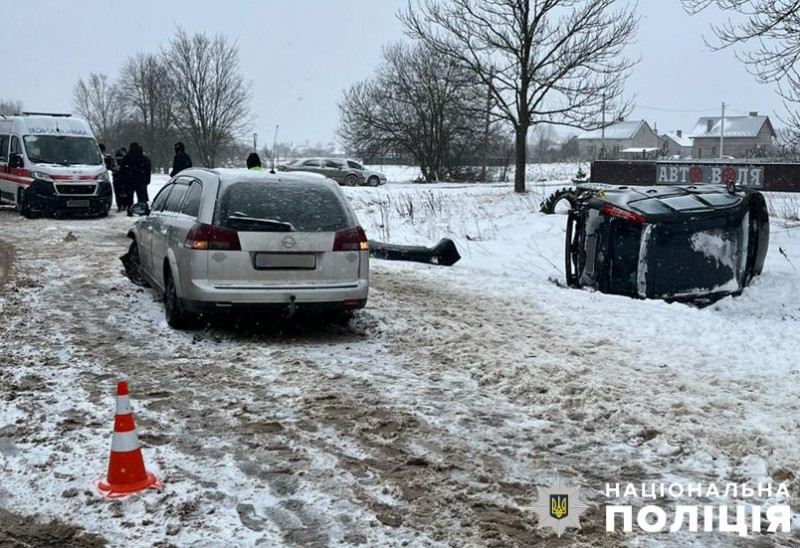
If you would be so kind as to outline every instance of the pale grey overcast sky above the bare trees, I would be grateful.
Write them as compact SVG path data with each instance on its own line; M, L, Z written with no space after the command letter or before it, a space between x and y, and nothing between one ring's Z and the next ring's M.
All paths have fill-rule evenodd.
M732 51L711 52L712 14L690 17L679 0L641 0L640 57L628 82L637 107L628 119L659 132L688 133L700 116L758 111L780 125L773 88L756 84ZM156 52L181 26L222 33L239 46L252 82L259 147L335 139L337 104L369 78L381 46L403 38L396 13L405 0L0 0L0 99L26 110L71 112L72 90L90 73L118 76L127 57ZM655 6L658 7L655 7ZM719 18L716 14L714 17ZM568 133L567 130L559 130ZM252 136L248 135L248 140ZM114 144L116 145L116 144ZM113 146L113 145L112 145Z

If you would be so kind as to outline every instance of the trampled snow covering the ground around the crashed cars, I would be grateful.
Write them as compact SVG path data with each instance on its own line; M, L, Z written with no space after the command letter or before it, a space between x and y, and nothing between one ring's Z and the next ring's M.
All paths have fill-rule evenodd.
M800 224L777 215L800 197L769 197L763 275L698 309L557 283L565 216L538 207L576 165L532 166L525 195L376 167L388 185L345 189L370 239L450 237L462 260L373 260L370 301L346 327L175 332L119 273L131 219L0 208L0 258L13 254L0 267L0 509L28 528L38 516L42 535L54 519L98 535L75 546L745 546L606 533L605 484L785 482L797 495ZM165 489L108 502L91 481L120 375ZM532 511L557 475L592 505L561 539ZM0 526L0 541L19 531Z

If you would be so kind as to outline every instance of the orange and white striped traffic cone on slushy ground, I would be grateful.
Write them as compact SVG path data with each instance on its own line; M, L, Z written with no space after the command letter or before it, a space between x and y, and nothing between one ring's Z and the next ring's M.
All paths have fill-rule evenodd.
M128 399L128 383L117 383L117 414L114 417L114 437L111 440L111 457L108 460L106 481L95 483L100 496L114 499L153 487L163 485L156 477L144 469L139 438L133 424L133 411Z

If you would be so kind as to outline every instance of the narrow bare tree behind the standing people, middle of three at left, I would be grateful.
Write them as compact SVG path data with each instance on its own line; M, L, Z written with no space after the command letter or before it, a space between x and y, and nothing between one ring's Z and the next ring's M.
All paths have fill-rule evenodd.
M132 118L137 122L140 144L154 166L168 166L175 136L176 106L169 73L158 55L137 53L120 73L120 88Z

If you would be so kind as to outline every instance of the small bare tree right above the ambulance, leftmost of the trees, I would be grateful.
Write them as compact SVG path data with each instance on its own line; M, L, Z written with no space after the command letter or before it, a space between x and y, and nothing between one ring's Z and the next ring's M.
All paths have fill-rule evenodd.
M72 92L75 110L86 118L100 141L116 141L125 121L125 109L119 88L105 74L89 74L78 80Z

